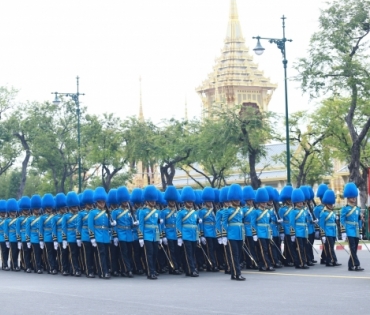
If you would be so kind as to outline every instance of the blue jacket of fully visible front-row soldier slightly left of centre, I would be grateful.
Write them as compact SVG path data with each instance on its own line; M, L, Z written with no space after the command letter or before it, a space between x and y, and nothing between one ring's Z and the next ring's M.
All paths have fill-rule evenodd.
M157 209L144 207L139 212L139 239L158 242L161 236L161 213Z

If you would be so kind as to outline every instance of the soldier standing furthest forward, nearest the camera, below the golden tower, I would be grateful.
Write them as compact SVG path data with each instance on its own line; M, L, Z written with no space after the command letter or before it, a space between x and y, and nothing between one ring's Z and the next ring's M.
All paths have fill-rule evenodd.
M243 251L245 237L243 211L240 209L242 189L238 184L232 184L227 194L231 206L222 214L222 229L226 231L227 252L231 262L231 280L244 281L241 275L240 257Z

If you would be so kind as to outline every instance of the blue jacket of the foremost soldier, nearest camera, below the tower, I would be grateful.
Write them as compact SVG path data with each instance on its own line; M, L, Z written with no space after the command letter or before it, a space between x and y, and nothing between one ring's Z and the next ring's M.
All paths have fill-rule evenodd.
M239 207L226 209L222 214L222 229L229 240L244 240L243 210Z

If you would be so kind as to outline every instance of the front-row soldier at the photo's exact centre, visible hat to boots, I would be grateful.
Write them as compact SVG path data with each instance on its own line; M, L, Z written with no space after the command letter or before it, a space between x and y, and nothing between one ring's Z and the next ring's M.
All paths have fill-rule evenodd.
M180 210L176 218L177 244L184 248L184 268L186 276L199 277L194 260L197 243L199 242L199 215L193 208L195 193L193 188L187 186L182 189L181 200L184 208Z

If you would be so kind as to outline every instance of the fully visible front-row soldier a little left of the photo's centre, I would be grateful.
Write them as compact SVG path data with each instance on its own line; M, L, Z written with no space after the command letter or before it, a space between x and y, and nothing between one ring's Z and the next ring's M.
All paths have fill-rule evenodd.
M156 262L158 255L158 244L162 244L160 211L156 209L158 199L157 189L153 185L145 188L144 193L145 206L139 214L139 243L144 248L145 261L147 264L147 278L157 279Z

